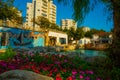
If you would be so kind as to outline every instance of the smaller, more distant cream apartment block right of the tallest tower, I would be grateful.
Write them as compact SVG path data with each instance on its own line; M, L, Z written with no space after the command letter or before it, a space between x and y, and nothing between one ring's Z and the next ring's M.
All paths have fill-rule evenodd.
M62 26L62 29L74 28L76 30L77 23L73 19L62 19L61 26Z

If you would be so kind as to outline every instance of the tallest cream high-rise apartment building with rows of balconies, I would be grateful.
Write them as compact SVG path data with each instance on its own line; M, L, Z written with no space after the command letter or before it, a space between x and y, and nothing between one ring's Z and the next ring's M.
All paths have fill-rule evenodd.
M43 16L50 22L56 23L56 6L52 0L33 0L32 3L27 3L26 13L28 26L35 26L32 21L38 16Z

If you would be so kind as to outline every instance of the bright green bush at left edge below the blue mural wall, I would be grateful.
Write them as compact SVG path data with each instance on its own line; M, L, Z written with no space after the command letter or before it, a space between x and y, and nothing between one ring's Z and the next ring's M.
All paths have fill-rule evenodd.
M13 51L11 47L6 49L6 52L0 54L0 60L8 60L9 58L13 58L16 53Z

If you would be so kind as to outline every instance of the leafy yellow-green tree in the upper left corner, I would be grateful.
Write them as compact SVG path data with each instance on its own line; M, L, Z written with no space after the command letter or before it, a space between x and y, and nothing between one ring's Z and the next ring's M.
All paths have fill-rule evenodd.
M0 19L9 20L22 24L22 17L20 12L13 6L14 0L1 0L0 1Z

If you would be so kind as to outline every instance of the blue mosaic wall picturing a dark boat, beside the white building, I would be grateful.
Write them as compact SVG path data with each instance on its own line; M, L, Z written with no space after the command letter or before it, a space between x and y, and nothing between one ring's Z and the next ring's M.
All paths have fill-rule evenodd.
M0 27L0 49L8 46L13 48L44 46L44 36L42 32Z

